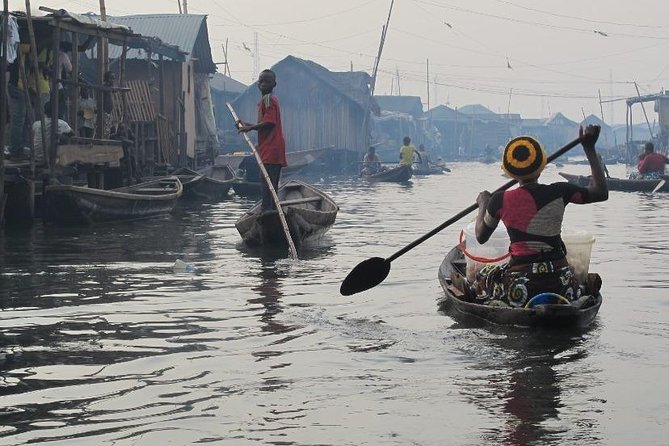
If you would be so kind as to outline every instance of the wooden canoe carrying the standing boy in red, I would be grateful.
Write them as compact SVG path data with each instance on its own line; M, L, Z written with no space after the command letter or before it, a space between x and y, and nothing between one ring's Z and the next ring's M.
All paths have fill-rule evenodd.
M316 187L289 180L277 194L297 247L317 241L334 224L339 206ZM244 242L250 246L287 245L277 211L261 212L260 205L256 203L235 223Z

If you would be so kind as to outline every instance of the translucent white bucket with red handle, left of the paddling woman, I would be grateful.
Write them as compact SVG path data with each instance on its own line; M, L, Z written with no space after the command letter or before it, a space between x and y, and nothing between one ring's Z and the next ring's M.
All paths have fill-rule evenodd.
M509 261L509 234L506 226L499 222L487 242L481 245L476 241L476 222L473 221L463 230L465 234L465 258L467 259L467 280L474 282L476 273L487 265L501 265ZM472 258L475 257L475 258Z

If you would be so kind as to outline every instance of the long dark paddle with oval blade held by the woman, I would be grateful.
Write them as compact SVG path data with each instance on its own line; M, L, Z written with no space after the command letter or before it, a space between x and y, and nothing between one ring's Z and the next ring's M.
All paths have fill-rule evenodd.
M576 138L566 146L562 147L560 150L557 152L553 153L551 156L548 157L548 162L553 161L554 159L564 155L567 153L569 150L572 148L576 147L581 143L580 138ZM516 184L516 180L511 180L504 184L502 187L497 189L495 192L498 191L503 191L514 184ZM372 257L370 259L364 260L360 262L355 268L351 270L350 273L348 273L348 276L344 279L344 281L341 284L341 287L339 288L339 292L344 295L344 296L350 296L351 294L356 294L360 293L362 291L368 290L370 288L375 287L376 285L380 284L383 282L383 280L388 276L388 273L390 272L390 262L398 258L399 256L406 254L416 246L420 245L423 243L425 240L429 239L433 235L437 234L438 232L441 232L443 229L449 227L456 221L460 220L467 214L471 213L472 211L475 211L478 209L478 205L474 203L473 205L469 206L466 209L463 209L453 217L449 218L424 236L414 240L413 242L409 243L406 245L404 248L400 249L390 257L384 259L381 257Z

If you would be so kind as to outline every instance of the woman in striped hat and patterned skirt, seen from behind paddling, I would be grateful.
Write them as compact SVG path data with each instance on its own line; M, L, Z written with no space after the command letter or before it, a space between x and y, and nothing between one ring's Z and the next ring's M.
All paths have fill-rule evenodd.
M508 176L518 180L519 187L492 195L483 191L476 200L478 242L488 241L500 220L511 240L508 263L488 266L477 273L477 291L489 300L522 307L544 292L557 293L569 300L580 296L581 288L567 263L560 233L568 203L586 204L608 199L604 171L595 151L599 131L600 127L595 125L579 129L581 145L592 170L588 187L565 182L540 184L538 179L547 159L539 142L521 136L506 145L502 168Z

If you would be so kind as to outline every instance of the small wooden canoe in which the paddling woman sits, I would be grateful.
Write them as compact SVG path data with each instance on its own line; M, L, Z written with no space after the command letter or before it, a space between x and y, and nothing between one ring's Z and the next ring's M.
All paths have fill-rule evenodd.
M439 305L442 310L459 319L478 319L496 325L518 327L584 328L597 316L602 295L582 296L571 304L538 304L532 308L513 308L476 303L465 278L466 262L462 251L453 248L439 267L439 282L445 297ZM589 279L597 277L589 274Z

